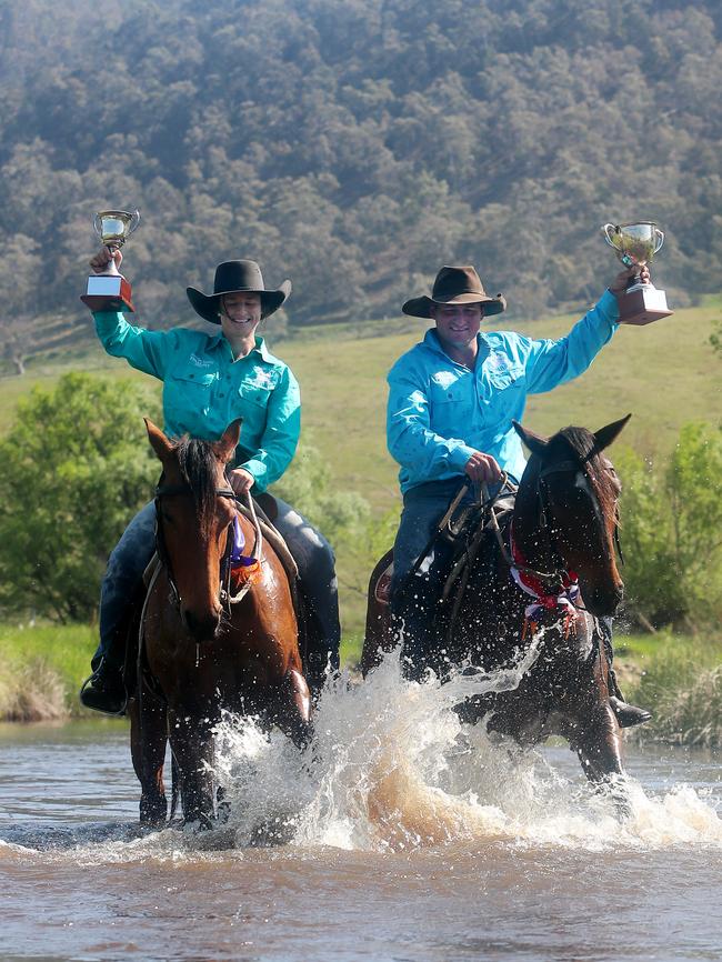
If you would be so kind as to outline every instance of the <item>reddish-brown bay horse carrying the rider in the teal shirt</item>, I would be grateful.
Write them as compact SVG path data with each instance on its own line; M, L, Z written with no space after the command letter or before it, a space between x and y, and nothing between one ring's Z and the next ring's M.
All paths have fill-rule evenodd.
M151 421L146 427L162 474L156 491L160 564L141 615L137 687L128 707L140 819L156 825L167 818L170 739L184 819L209 826L217 814L212 730L222 711L260 715L303 746L310 695L289 578L268 539L237 603L229 601L224 575L234 519L247 545L261 540L237 513L225 477L240 421L215 442L170 441Z

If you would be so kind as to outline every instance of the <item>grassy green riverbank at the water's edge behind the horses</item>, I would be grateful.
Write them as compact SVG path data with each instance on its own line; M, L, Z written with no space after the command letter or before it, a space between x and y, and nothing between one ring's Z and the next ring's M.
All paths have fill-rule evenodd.
M0 625L0 721L92 717L78 690L96 644L92 625ZM722 637L620 634L615 647L624 694L653 712L636 739L722 745ZM353 665L360 654L361 638L345 637L342 662Z

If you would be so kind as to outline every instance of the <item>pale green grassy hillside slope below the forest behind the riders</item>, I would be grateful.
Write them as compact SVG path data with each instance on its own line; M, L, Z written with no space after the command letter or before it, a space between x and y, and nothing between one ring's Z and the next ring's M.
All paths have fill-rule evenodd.
M599 428L631 411L634 417L623 442L649 454L669 451L684 422L722 419L722 358L709 343L720 317L722 297L716 297L655 324L621 328L583 378L531 398L525 423L542 432L570 423ZM515 329L553 338L574 320L559 317ZM385 373L424 330L424 321L417 327L409 319L333 325L304 331L278 348L301 382L304 435L332 465L339 483L377 508L397 500L397 468L385 450ZM99 348L38 359L23 378L0 379L0 432L7 430L18 399L33 384L77 369L144 377Z

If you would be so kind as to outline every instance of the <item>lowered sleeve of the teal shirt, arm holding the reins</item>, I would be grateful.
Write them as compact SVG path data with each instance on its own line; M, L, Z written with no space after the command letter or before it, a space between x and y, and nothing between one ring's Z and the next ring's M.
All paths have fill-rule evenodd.
M255 479L258 490L283 474L291 463L301 433L301 392L289 368L284 368L268 402L265 428L253 457L235 464Z

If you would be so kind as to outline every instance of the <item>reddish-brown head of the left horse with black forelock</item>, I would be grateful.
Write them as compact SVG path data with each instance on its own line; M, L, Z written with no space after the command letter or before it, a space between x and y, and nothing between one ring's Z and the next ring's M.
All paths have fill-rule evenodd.
M170 441L148 419L146 428L163 468L156 492L158 551L181 621L197 642L207 641L221 623L221 562L235 515L225 467L241 422L233 421L220 441Z

